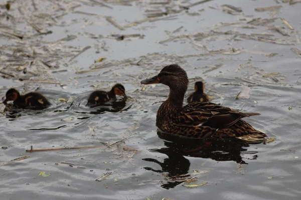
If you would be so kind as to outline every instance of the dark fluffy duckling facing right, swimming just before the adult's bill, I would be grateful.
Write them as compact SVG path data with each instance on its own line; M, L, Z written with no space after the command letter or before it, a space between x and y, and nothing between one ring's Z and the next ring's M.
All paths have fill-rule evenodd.
M111 99L115 99L116 95L126 96L125 88L122 84L115 84L110 91L93 91L88 98L86 106L94 107L101 105Z

